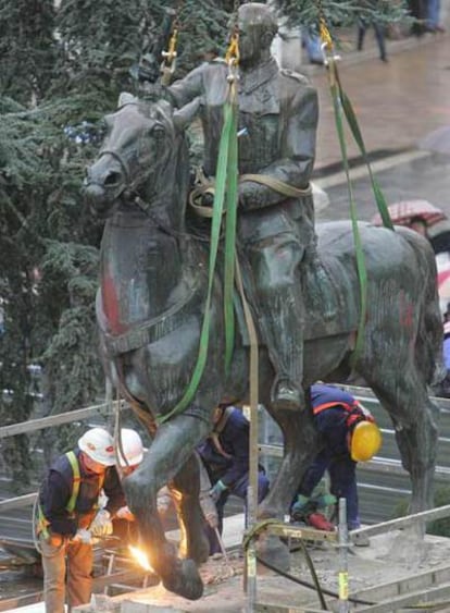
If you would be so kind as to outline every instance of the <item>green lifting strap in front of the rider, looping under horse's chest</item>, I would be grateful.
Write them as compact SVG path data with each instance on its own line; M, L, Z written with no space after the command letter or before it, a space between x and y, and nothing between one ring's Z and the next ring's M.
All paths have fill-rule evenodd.
M162 415L157 419L158 425L162 425L175 415L183 413L190 401L193 399L197 389L199 387L201 377L204 371L204 366L207 364L208 348L210 341L210 327L211 327L211 301L214 287L214 274L217 261L220 238L221 238L221 225L222 216L225 211L225 196L226 196L226 207L227 217L228 208L230 213L230 220L227 219L226 229L230 234L236 233L236 216L237 209L237 114L238 108L236 103L236 89L235 84L230 84L228 90L228 97L224 105L224 125L222 128L221 140L218 145L218 157L217 157L217 172L214 192L214 204L213 204L213 217L211 220L211 238L210 238L210 258L209 258L209 278L208 278L208 292L207 299L204 302L204 315L203 322L200 333L199 353L197 356L197 363L193 368L192 376L190 378L189 384L178 404L170 410L166 415ZM236 165L236 168L235 168ZM234 200L234 201L232 201ZM225 256L225 279L226 287L224 289L224 296L230 296L230 304L225 307L225 353L226 357L230 361L233 354L233 339L234 339L234 311L233 311L233 287L232 280L234 280L234 241L232 238L225 237L225 245L229 246L233 243L233 263L230 263L230 257ZM232 287L232 289L230 289ZM226 299L226 298L224 298ZM232 345L230 345L232 344ZM226 364L226 363L225 363Z

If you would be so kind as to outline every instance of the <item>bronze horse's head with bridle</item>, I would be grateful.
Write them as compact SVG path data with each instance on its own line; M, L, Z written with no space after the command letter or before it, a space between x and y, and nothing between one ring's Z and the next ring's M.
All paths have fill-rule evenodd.
M136 204L174 204L178 216L184 211L189 164L176 114L164 100L121 96L118 110L104 118L107 136L86 171L84 195L93 214L108 218Z

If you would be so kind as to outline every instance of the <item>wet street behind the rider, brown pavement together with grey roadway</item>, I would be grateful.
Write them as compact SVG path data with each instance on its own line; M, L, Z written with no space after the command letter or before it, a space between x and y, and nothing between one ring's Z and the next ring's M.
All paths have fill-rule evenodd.
M343 52L339 63L342 86L358 114L388 204L424 198L450 216L450 155L417 148L429 132L450 125L450 35L390 41L389 48L387 64L378 60L374 41L363 56ZM345 219L349 217L348 194L327 73L322 66L307 65L304 71L317 87L321 102L315 179L330 198L330 206L317 211L317 220ZM358 167L360 154L350 133L348 155ZM352 177L360 219L368 220L376 205L364 169L353 170Z

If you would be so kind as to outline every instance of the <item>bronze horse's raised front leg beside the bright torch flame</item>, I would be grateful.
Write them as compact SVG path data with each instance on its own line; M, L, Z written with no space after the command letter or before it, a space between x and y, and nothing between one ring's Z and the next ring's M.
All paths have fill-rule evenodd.
M204 419L180 415L161 426L139 468L124 480L127 502L134 513L150 564L164 587L189 600L203 593L203 584L193 560L180 560L164 535L158 514L158 492L172 481L210 430ZM189 465L189 464L188 464ZM196 474L192 479L198 479ZM199 485L191 486L191 493Z

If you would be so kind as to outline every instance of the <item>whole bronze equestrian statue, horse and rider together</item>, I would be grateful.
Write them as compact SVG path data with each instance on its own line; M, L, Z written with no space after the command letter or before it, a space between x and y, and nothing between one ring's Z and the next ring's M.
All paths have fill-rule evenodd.
M246 4L241 10L246 7L257 11L249 13L253 16L262 11L259 4ZM240 27L245 30L246 24ZM221 64L217 66L213 89L218 93L223 91L218 75L226 76L226 72ZM209 74L208 65L200 73L202 70ZM249 149L241 144L241 170L267 174L273 170L275 175L280 173L277 176L283 181L305 187L314 156L315 94L302 79L279 74L275 74L278 85L285 84L283 87L291 96L278 89L275 93L268 79L263 78L263 68L257 72L247 82L249 100L243 103L243 110L248 114L242 114L241 126L249 134L255 131L270 143L267 150L264 142L253 140L253 136ZM290 117L289 110L298 112L293 105L295 85L299 98L310 109L297 125L300 131L297 136L284 132L287 119L280 120ZM176 87L173 86L175 98ZM259 101L251 101L253 93ZM207 97L200 102L202 113L215 126L215 122L221 122L217 113L222 98L216 100L217 108L210 108L208 100ZM261 100L270 110L268 117L261 109ZM257 119L252 118L253 110ZM204 375L186 410L157 426L158 418L171 412L190 382L208 289L208 243L199 240L186 223L189 164L184 124L188 114L183 109L174 110L165 100L135 99L108 115L108 135L97 161L87 171L85 193L92 211L107 220L97 302L105 371L152 436L141 466L124 480L127 500L138 519L151 564L164 586L183 597L197 599L202 594L197 564L208 557L208 542L202 530L199 467L193 452L212 429L214 407L225 396L246 399L248 346L245 331L237 330L232 372L226 377L223 290L217 275ZM298 143L299 137L305 142ZM207 140L208 146L212 144ZM265 159L264 168L251 165L252 149L260 163ZM282 150L284 165L276 157ZM296 165L302 170L296 170ZM213 172L213 167L207 167L207 171ZM292 369L283 358L275 367L276 352L284 348L279 345L275 351L268 348L271 333L264 330L259 365L260 399L282 428L285 453L275 482L259 508L259 517L283 518L316 452L312 415L305 410L303 394L300 392L296 400L300 406L296 410L278 404L276 391L275 395L272 393L280 373L299 376L302 384L300 380L292 383L303 389L318 379L346 381L352 370L364 378L391 416L402 463L411 475L412 510L426 508L432 499L438 413L428 397L427 385L439 366L441 351L436 266L429 245L407 229L392 232L360 223L368 308L363 347L354 356L361 305L350 222L320 224L315 247L309 198L287 201L259 184L242 185L240 198L245 204L239 240L255 267L255 274L261 270L262 281L275 282L277 287L295 284L290 294L283 294L287 302L283 306L291 307L292 312L282 321L286 329L280 335L292 334L293 344L300 346L289 345L289 352L298 348L295 355L301 356ZM275 210L278 205L279 214ZM266 245L268 249L264 252ZM286 258L278 262L275 272L268 262L273 257ZM309 270L313 262L320 268L320 291L315 271ZM279 275L285 275L283 283ZM259 291L261 297L261 285ZM328 296L327 304L322 299L324 294ZM297 305L298 296L301 306ZM253 308L257 310L258 306L263 310L265 304L260 302ZM268 306L274 307L272 303ZM264 317L262 320L265 321ZM166 483L176 492L183 535L179 557L166 541L158 515L157 493ZM280 547L279 543L275 552Z

